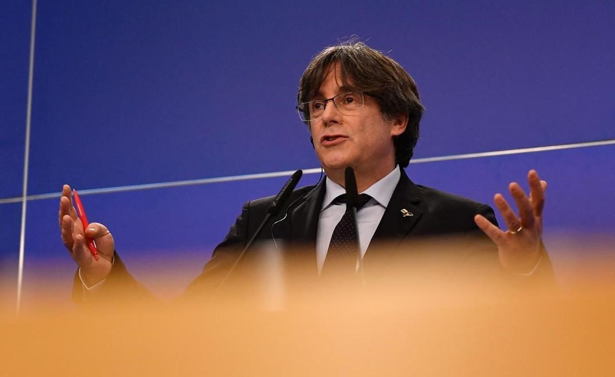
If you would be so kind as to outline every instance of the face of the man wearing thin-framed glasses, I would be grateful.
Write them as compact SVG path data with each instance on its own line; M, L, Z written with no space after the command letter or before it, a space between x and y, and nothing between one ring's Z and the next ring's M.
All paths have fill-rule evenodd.
M339 67L334 66L313 99L331 98L349 91L341 87ZM405 119L384 120L375 98L363 95L361 109L341 114L332 101L322 116L310 123L314 149L327 174L352 166L355 171L387 174L395 166L392 136L405 130Z

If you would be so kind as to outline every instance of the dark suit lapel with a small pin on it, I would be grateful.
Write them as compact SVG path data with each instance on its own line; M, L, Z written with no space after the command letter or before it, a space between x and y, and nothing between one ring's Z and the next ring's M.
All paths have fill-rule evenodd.
M369 250L373 249L371 245L378 241L392 241L394 244L402 241L423 214L419 208L421 198L418 188L410 181L405 171L400 169L402 176L371 238L366 256L369 255Z

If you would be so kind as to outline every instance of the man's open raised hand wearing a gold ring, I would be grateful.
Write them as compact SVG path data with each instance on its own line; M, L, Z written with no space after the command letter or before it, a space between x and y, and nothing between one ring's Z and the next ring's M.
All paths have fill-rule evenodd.
M510 195L515 200L518 216L510 208L504 196L493 197L500 214L506 222L506 231L500 230L481 215L476 215L476 225L498 246L502 266L517 273L531 272L540 261L542 237L542 209L547 182L541 181L535 170L528 173L530 197L525 195L517 182L509 185Z

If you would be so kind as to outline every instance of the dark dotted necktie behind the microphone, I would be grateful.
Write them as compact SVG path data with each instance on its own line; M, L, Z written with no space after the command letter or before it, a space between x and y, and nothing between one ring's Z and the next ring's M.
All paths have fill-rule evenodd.
M370 199L371 196L367 194L359 195L357 211ZM346 203L346 194L339 195L333 203ZM357 239L354 214L352 213L352 208L346 208L344 216L342 216L338 225L333 230L327 257L322 266L322 274L325 274L325 272L330 274L331 270L341 273L354 273L357 268L358 251L359 241Z

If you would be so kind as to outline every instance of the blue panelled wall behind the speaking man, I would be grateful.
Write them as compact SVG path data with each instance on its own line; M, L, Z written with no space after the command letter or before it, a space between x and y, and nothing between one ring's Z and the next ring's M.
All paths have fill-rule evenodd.
M31 4L0 10L0 198L10 198L22 193ZM40 2L28 195L63 183L83 190L315 168L294 109L298 80L319 50L354 34L418 83L427 111L415 158L614 139L613 25L611 1ZM407 172L491 203L538 169L549 181L549 247L561 233L612 232L614 160L611 145ZM130 270L173 295L241 204L284 181L91 195L84 204L90 221L113 231ZM0 204L5 303L14 300L20 211ZM26 302L55 278L68 297L74 263L60 243L57 200L28 201L26 219ZM557 268L557 247L549 250ZM161 284L165 272L186 278Z

